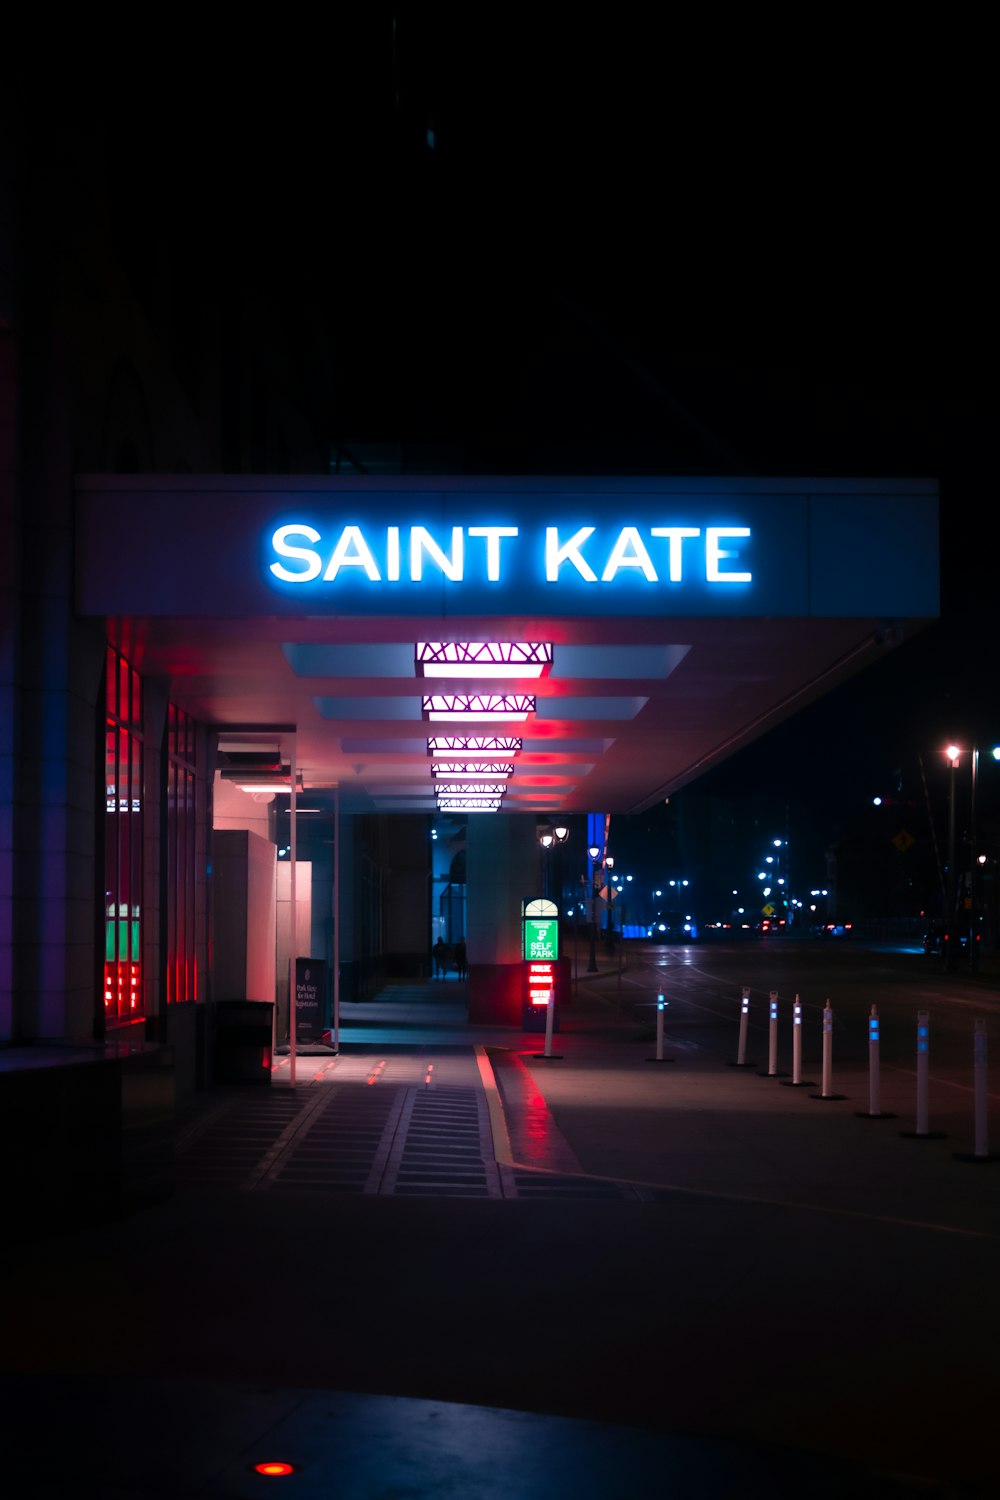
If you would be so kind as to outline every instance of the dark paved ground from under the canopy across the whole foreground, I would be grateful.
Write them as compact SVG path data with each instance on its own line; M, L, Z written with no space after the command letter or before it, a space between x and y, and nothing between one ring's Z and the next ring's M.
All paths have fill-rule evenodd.
M6 1492L256 1496L259 1460L337 1500L1000 1492L963 1113L915 1143L909 1080L871 1119L861 1076L658 1062L604 986L550 1059L454 984L345 1006L294 1090L184 1112L172 1198L7 1257ZM483 1191L433 1179L445 1116Z

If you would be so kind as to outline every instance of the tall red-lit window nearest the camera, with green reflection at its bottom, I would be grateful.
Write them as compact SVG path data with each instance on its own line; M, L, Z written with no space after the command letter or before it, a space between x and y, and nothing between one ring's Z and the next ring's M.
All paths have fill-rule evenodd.
M108 1024L145 1016L142 984L142 684L114 646L105 670L105 958Z

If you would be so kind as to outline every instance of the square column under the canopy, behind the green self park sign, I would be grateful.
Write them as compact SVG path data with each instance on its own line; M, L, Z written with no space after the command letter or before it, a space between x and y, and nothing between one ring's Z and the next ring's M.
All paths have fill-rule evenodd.
M466 837L469 1022L522 1024L522 902L540 896L535 819L471 814Z

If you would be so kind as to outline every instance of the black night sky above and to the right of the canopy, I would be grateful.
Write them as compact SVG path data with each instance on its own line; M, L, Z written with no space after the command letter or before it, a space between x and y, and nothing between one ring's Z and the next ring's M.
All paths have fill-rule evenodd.
M346 9L115 54L76 112L28 99L18 123L102 135L123 236L165 237L181 292L307 298L331 441L441 444L469 472L937 478L942 621L706 794L774 784L823 844L948 738L1000 736L984 39ZM988 822L988 768L981 795Z

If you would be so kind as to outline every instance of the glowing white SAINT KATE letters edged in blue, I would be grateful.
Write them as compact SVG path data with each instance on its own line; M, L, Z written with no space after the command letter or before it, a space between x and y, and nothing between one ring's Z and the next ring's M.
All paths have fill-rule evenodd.
M427 526L346 525L331 537L307 522L279 526L270 538L270 572L282 584L336 584L345 576L372 584L421 582L501 584L510 573L532 572L547 584L612 584L619 574L649 584L750 584L741 567L750 526L450 526L450 542ZM727 543L742 542L736 549Z

